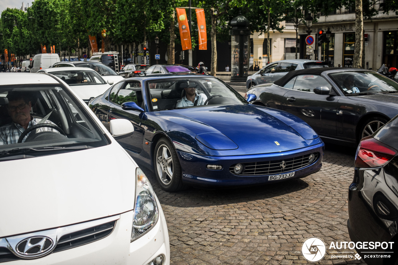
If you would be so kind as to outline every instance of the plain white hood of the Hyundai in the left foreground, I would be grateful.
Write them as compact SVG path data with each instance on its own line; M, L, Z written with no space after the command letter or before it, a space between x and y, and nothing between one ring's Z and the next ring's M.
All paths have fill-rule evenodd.
M135 168L119 144L0 162L0 238L134 208Z

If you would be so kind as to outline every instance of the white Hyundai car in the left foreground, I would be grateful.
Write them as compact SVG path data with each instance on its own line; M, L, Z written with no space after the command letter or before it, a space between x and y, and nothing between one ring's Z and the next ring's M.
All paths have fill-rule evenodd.
M152 186L110 133L55 76L0 73L0 263L170 264Z

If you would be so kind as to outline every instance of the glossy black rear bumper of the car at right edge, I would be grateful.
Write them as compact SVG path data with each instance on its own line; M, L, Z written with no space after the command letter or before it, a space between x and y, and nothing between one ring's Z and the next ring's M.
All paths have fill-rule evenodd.
M347 228L351 241L355 244L360 242L359 246L363 242L396 241L394 222L380 218L373 208L373 204L377 203L377 194L383 193L384 189L389 190L384 181L383 168L377 170L355 168L354 181L348 192ZM393 236L395 237L392 238ZM384 246L388 247L356 248L356 250L368 265L394 264L398 253L397 242ZM390 255L390 258L382 257L384 255Z

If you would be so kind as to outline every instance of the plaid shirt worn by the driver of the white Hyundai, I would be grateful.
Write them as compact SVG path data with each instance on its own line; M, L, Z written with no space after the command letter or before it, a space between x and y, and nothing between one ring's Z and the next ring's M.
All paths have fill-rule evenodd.
M33 125L36 125L39 123L39 121L41 121L41 119L36 119L31 116L31 121L29 121L29 125L27 127L29 128ZM55 124L51 121L45 121L45 123ZM21 125L19 125L18 123L13 123L13 122L0 127L0 145L18 143L18 139L22 135L23 131L25 131L25 129L23 129L23 127ZM44 131L51 131L51 132L58 133L57 130L54 130L53 128L49 128L49 127L41 127L39 129L37 129L37 132L44 132ZM24 142L26 140L26 138L27 138L27 136L29 136L29 134L31 134L31 132L28 133L25 136L25 138L23 138L22 142Z

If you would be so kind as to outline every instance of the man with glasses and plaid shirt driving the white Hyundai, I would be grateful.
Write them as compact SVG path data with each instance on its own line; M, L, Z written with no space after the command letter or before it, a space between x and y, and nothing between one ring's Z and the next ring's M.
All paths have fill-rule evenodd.
M30 115L32 103L23 92L9 92L7 98L7 109L8 114L12 118L12 123L0 127L0 145L18 143L18 139L23 131L41 121L41 119L34 118L32 115ZM54 124L53 122L47 120L45 123ZM36 133L43 131L52 131L58 133L57 130L49 127L41 127L36 129ZM27 136L29 134L27 134ZM22 140L22 142L26 140L27 136Z

